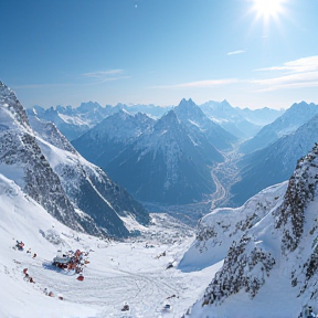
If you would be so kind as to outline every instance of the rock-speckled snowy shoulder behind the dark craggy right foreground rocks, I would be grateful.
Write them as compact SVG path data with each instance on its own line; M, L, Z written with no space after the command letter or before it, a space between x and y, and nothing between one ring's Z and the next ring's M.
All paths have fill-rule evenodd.
M179 268L200 271L222 261L232 245L240 241L247 229L259 222L282 201L287 182L267 188L240 208L215 209L203 216L197 229L197 237L183 255Z

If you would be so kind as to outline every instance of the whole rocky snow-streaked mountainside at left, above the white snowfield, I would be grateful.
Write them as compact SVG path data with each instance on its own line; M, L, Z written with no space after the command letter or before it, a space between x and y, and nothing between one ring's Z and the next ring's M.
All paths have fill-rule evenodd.
M149 223L148 212L84 160L54 124L31 117L35 134L14 93L2 83L0 98L0 173L77 231L127 236L125 222Z

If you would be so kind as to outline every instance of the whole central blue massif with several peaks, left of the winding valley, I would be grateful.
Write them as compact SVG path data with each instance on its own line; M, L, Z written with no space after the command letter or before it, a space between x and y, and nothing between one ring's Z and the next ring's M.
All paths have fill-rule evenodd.
M231 149L236 140L182 99L157 121L121 110L72 144L136 199L186 204L215 190L210 167L224 160L216 148Z

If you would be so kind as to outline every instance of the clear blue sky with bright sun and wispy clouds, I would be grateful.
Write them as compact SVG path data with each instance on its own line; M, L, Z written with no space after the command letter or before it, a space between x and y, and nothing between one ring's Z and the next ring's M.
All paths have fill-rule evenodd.
M318 104L317 17L318 0L0 0L0 80L25 107Z

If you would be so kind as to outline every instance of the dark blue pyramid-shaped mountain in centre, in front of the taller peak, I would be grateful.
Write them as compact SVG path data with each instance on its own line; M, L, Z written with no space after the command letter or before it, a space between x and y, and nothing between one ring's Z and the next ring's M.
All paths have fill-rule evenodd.
M222 160L198 127L170 110L102 168L140 201L183 204L215 190L209 166Z

